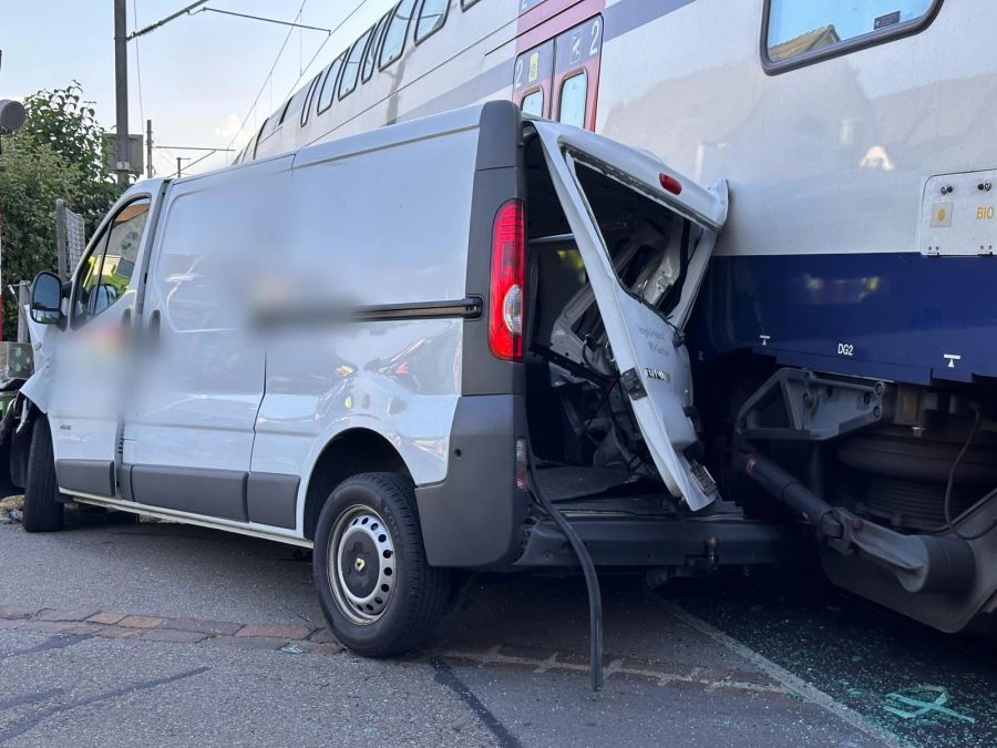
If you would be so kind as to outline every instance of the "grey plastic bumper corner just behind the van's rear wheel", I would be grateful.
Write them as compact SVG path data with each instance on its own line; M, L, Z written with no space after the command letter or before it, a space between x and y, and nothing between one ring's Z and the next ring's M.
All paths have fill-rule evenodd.
M446 479L415 489L431 566L504 566L518 554L528 495L516 488L516 438L525 433L523 396L458 400Z

